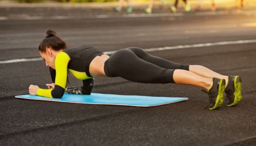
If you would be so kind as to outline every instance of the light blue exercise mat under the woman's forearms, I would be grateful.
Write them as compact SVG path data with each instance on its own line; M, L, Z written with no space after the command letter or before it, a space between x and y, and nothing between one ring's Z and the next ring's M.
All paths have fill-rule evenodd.
M136 107L152 107L166 104L177 103L188 100L187 98L168 98L156 96L139 96L139 95L116 95L116 94L100 94L91 93L91 95L81 94L64 94L61 99L45 98L37 95L17 95L15 98L64 102L64 103L80 103L80 104L99 104L99 105L121 105Z

